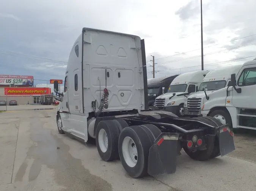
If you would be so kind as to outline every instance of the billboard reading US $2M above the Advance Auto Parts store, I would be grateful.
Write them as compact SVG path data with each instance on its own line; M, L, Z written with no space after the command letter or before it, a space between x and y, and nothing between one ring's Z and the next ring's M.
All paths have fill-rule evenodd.
M0 75L0 85L34 85L34 77L31 75Z

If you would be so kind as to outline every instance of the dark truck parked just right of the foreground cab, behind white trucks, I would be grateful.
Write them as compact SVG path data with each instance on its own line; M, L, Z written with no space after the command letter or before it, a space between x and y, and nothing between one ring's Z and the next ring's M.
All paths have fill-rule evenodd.
M171 82L177 76L178 75L148 79L148 106L153 106L155 98L168 91Z

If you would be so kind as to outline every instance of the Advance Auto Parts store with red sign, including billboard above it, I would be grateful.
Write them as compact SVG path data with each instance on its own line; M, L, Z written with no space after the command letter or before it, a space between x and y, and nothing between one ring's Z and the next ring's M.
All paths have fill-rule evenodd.
M35 88L33 76L0 75L0 100L7 103L16 100L19 105L37 104L44 94L51 94L51 88Z

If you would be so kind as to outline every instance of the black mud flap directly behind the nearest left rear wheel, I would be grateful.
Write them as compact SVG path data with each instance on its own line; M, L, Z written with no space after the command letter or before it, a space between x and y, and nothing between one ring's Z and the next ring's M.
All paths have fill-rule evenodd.
M149 149L148 174L172 174L176 171L179 134L161 133Z

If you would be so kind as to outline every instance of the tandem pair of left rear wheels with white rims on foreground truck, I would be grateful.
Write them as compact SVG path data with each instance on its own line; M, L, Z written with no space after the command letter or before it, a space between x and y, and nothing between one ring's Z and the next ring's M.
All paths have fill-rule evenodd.
M161 134L155 125L128 126L125 120L104 120L96 129L96 145L102 160L120 159L124 169L134 178L148 173L148 154Z

